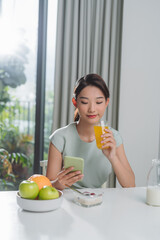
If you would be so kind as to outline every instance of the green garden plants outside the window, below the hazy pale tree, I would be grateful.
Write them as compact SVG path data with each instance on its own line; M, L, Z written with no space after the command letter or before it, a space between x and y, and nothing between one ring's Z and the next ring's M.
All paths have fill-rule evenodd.
M7 150L5 150L7 149ZM32 136L20 134L18 127L0 122L0 190L14 190L32 167Z

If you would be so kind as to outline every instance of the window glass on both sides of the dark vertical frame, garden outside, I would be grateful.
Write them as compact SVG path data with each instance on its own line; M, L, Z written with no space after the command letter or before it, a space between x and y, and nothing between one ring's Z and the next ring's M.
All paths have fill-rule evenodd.
M46 89L43 89L45 122L44 129L39 131L44 131L47 158L53 112L57 1L45 2L48 3L48 25L44 26L48 30ZM35 148L40 148L35 144L35 129L37 103L41 98L37 95L37 53L42 3L2 0L0 4L0 190L17 189L22 179L34 173Z

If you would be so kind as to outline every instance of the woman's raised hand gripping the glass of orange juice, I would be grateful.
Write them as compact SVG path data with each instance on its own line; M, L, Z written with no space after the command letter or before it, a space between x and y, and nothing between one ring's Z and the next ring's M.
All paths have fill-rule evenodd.
M101 135L102 137L102 152L104 155L112 162L116 156L116 141L114 139L113 133L110 129L105 129L105 133Z

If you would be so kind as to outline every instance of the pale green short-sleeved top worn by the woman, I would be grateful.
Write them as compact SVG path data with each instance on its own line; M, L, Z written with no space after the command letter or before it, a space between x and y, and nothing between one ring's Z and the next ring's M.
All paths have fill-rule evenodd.
M116 140L116 146L122 144L120 133L110 128ZM102 150L96 146L96 140L84 142L77 132L76 123L71 123L57 129L50 141L64 156L80 157L84 159L84 177L74 185L76 187L99 188L108 180L111 173L111 164Z

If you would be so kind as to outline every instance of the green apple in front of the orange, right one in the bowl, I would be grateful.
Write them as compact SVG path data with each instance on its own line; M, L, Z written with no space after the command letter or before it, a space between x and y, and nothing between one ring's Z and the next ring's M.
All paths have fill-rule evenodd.
M39 200L49 200L59 198L59 192L56 188L51 186L44 186L38 194Z

